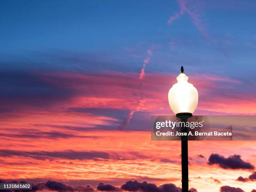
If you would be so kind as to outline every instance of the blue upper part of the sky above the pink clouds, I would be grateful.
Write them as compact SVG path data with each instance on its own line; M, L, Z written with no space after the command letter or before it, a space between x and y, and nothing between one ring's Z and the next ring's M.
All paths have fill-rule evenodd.
M187 3L204 36L186 12L167 22L180 11L177 1L2 1L0 60L18 64L1 68L139 72L155 45L148 72L172 73L184 64L191 72L229 70L228 76L242 78L243 71L256 71L256 2L232 2ZM113 65L74 67L66 57L102 58Z

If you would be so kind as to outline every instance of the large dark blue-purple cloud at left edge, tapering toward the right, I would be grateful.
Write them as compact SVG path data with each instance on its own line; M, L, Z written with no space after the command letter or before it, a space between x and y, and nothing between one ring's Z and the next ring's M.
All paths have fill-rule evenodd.
M24 71L0 71L0 104L2 108L49 106L67 100L73 92L57 87L42 78L42 74ZM6 105L8 103L8 105Z

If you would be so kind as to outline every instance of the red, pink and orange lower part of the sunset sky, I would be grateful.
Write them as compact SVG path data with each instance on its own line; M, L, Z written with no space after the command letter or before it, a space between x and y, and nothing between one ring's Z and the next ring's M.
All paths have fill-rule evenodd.
M50 179L94 187L100 182L120 187L136 179L181 186L180 142L150 138L150 115L172 115L167 93L175 82L173 75L146 74L141 87L137 74L38 76L69 94L46 99L38 95L31 100L20 97L3 103L9 109L3 111L0 125L3 179L34 183ZM253 115L256 111L250 99L255 98L253 93L245 97L233 91L242 82L205 74L189 77L189 82L199 92L195 114ZM129 124L120 130L131 110ZM223 169L207 161L211 154L225 158L237 154L255 165L255 146L255 141L189 141L190 187L209 192L224 185L252 190L255 182L236 179L248 177L253 170Z

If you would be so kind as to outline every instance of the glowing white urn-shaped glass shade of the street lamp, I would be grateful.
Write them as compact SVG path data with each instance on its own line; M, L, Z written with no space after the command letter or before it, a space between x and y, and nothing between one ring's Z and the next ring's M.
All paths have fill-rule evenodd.
M177 77L177 83L168 93L169 105L173 113L194 113L197 108L198 92L189 82L186 74L181 73Z

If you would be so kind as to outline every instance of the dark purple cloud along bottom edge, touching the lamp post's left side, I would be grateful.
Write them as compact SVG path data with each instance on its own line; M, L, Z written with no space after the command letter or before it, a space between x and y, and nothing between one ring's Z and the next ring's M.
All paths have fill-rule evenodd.
M142 192L181 192L181 188L176 187L174 184L163 184L159 187L156 184L151 184L146 181L128 181L122 185L121 189L125 191L142 191Z

